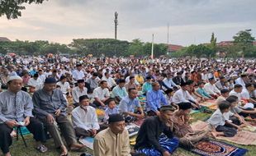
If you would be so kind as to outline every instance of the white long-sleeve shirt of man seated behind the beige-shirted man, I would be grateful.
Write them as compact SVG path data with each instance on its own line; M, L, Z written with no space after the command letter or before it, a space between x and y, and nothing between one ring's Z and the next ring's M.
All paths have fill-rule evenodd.
M74 108L72 111L72 122L74 128L79 127L84 130L100 129L97 122L97 113L92 106L88 106L87 111L80 106Z

